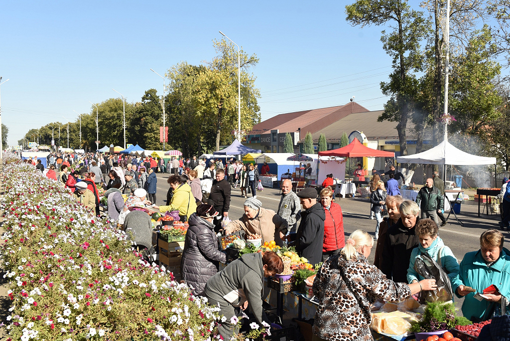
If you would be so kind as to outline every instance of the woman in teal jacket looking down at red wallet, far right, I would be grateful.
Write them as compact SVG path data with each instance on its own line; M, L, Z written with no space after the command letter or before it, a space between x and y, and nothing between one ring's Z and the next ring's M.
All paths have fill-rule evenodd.
M503 248L504 238L498 230L488 230L480 236L480 250L468 252L461 262L458 275L451 281L451 287L457 297L465 297L462 313L473 322L492 318L494 309L501 304L501 297L510 299L510 252ZM478 301L465 290L470 286L476 293L495 285L497 291L484 294L487 298Z

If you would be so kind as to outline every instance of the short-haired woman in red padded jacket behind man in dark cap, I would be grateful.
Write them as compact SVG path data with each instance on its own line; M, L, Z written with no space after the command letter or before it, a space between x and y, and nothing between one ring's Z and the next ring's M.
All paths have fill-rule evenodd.
M326 187L320 191L320 202L326 213L324 221L324 242L322 244L322 261L337 255L345 246L344 219L342 208L333 202L333 190Z

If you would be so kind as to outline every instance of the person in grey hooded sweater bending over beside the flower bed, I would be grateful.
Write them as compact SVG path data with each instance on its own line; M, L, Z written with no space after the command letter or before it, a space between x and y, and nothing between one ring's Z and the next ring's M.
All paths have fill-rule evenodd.
M220 307L220 313L226 318L218 327L224 340L230 340L235 332L235 323L231 321L235 315L234 307L244 310L249 303L259 326L270 324L262 308L264 277L279 274L283 270L282 259L276 253L265 252L264 256L250 253L228 264L207 281L204 295L211 305Z

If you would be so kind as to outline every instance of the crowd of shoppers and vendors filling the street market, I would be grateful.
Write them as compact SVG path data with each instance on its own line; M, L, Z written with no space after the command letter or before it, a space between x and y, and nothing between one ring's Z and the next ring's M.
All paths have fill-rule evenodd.
M462 311L471 321L490 319L501 302L510 299L510 252L503 247L501 232L484 231L479 249L464 255L460 264L440 237L444 185L441 188L437 175L427 179L416 201L410 201L395 191L398 185L393 183L394 169L386 185L375 174L370 183L375 236L356 230L345 240L342 209L327 183L319 193L310 187L296 193L290 180L282 181L278 209L273 211L264 208L257 199L253 184L260 181L260 175L256 165L246 167L236 160L224 165L221 160L212 160L206 168L204 160L193 157L184 160L182 166L180 160L175 164L177 167L172 166L166 203L157 206L155 172L161 171L159 163L151 158L143 158L143 162L131 158L131 163L114 158L100 154L78 158L57 155L54 162L49 162L46 176L67 187L78 202L96 214L98 188L105 190L110 219L131 231L139 248L150 248L147 228L142 227L151 230L146 214L151 208L178 211L180 220L189 222L182 278L193 287L194 294L206 296L210 303L219 305L227 317L219 328L224 338L236 332L230 319L235 307L246 309L249 305L257 323L269 324L262 308L264 277L281 273L283 263L274 252L247 254L218 272L219 262L226 261L225 254L218 249L218 233L242 231L246 235L260 235L262 243L274 240L278 246L287 242L311 264L322 263L313 284L313 293L319 300L313 326L317 340L350 340L354 334L360 339L369 337L374 299L396 302L416 297L425 290L436 290L436 279L426 279L416 269L415 262L423 255L436 261L448 275L452 294L465 297ZM138 162L133 163L135 159ZM104 168L110 160L111 167ZM151 161L156 166L152 167ZM69 172L71 164L81 167ZM55 167L60 169L58 174ZM267 167L262 168L267 172ZM104 175L108 175L107 182ZM361 174L358 176L361 178ZM241 196L246 198L244 214L223 223L230 209L232 187L236 186L240 186ZM374 241L374 263L370 264L368 257ZM481 300L472 292L474 289L481 293L490 285L495 290Z

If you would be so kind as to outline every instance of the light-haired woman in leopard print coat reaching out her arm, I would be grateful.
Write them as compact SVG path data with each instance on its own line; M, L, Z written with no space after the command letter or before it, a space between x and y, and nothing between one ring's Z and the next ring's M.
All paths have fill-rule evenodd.
M376 298L399 302L423 290L435 290L435 280L395 283L386 278L367 258L373 238L354 231L341 253L322 264L313 291L319 299L313 340L372 340L369 325L371 303Z

